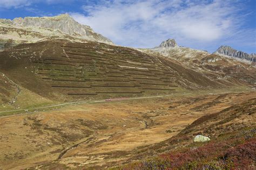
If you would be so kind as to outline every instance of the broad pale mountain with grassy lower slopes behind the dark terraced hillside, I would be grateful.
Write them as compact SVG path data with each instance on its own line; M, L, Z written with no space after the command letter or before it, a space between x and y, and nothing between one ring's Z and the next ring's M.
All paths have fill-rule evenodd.
M0 48L49 38L113 44L110 39L96 33L90 26L79 24L67 13L55 17L0 19Z

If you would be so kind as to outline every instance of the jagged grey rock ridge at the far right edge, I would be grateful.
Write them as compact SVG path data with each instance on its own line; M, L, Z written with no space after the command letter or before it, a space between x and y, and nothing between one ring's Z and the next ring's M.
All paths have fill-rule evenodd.
M234 59L240 59L240 60L248 60L251 62L256 62L256 57L254 54L247 54L242 51L237 51L236 49L233 49L229 46L220 46L214 54L222 54L230 56Z

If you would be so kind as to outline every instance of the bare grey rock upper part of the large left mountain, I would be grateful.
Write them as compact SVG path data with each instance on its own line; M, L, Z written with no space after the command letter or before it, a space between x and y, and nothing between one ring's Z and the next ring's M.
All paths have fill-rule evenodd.
M103 37L99 33L94 32L90 26L79 24L67 13L56 17L25 17L15 18L14 20L0 19L0 23L22 29L31 27L39 28L41 29L40 32L43 34L44 32L49 32L50 30L52 31L53 36L55 36L55 33L62 32L63 34L66 34L67 36L72 36L74 38L112 44L111 40Z

